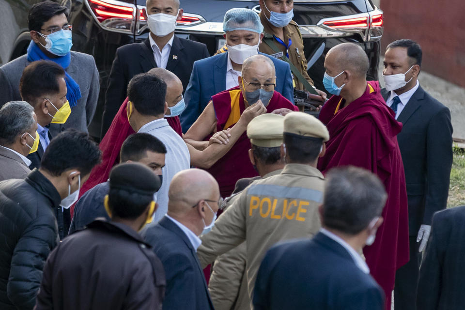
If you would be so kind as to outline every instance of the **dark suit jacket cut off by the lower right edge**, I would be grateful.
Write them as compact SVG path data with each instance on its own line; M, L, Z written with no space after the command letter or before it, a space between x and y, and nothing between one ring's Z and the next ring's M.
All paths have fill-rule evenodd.
M421 262L417 309L465 309L465 206L434 214Z

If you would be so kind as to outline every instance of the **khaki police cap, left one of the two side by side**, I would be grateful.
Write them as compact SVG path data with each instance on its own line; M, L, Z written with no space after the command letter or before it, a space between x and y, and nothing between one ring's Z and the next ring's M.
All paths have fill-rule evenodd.
M278 147L282 144L284 117L278 114L262 114L247 125L250 143L260 147Z

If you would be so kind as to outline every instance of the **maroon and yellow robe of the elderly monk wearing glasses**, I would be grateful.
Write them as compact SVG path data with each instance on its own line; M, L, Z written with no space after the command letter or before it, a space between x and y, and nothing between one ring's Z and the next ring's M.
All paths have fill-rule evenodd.
M246 109L244 97L238 86L212 96L212 102L217 116L217 131L233 127ZM298 111L296 106L275 91L266 110L270 113L281 108ZM250 140L244 132L233 148L207 170L217 180L222 197L231 195L237 180L258 175L248 158L248 149Z

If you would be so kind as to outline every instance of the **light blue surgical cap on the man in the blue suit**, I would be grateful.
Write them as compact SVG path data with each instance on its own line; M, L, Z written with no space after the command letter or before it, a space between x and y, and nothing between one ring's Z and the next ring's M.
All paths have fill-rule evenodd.
M223 31L248 30L257 33L263 32L263 25L257 13L250 9L235 8L224 15Z

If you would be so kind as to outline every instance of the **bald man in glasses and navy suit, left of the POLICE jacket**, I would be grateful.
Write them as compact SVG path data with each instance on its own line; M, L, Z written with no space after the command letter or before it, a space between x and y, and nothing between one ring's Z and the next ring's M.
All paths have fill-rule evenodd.
M196 251L199 235L213 227L222 203L218 183L203 170L180 171L168 196L168 214L142 233L165 269L163 309L213 310Z

